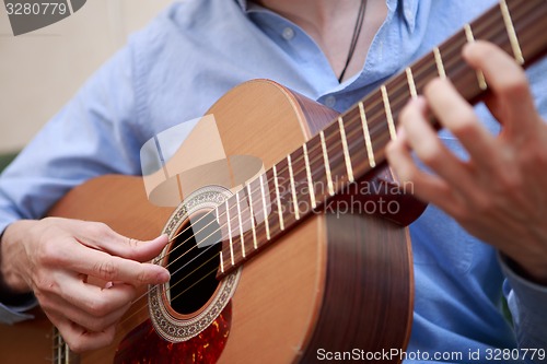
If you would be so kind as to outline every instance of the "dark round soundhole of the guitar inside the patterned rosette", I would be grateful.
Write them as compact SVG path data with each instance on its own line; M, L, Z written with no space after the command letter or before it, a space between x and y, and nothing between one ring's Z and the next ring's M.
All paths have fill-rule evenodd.
M186 221L171 245L166 296L179 315L199 312L219 286L217 270L222 248L220 226L212 213L196 213Z

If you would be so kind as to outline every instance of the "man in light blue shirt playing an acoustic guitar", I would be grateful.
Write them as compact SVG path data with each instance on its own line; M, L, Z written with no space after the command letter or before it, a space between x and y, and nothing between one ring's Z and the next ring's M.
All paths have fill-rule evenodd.
M135 285L167 280L162 268L135 261L158 254L165 238L141 244L104 225L32 219L93 176L139 174L144 141L202 115L245 80L272 79L341 111L491 4L174 5L104 66L3 175L1 272L10 294L3 296L32 290L73 350L106 344ZM389 162L438 207L411 226L416 303L408 351L480 351L486 360L493 348L547 347L547 130L537 111L547 113L547 90L539 79L545 64L529 73L534 105L523 71L499 49L479 43L464 55L492 90L487 105L501 133L487 108L474 111L447 81L435 80L405 108ZM450 131L442 141L428 127L428 113ZM432 173L421 172L410 150ZM85 274L117 283L91 287ZM502 284L514 328L501 314ZM523 359L529 360L514 362Z

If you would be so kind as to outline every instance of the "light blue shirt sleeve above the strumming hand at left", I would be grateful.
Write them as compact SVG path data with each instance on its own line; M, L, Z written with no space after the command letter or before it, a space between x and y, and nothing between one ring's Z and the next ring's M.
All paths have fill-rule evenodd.
M3 172L0 235L16 220L43 218L69 189L92 177L140 173L131 66L128 46L82 86ZM0 302L0 322L32 318L24 312L35 305L35 301L19 307Z

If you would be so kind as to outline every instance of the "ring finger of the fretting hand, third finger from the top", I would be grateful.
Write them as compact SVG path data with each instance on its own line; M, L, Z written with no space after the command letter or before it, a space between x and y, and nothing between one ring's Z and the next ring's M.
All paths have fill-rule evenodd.
M476 190L468 167L441 142L427 121L428 107L422 97L412 99L400 114L406 142L420 161L462 192Z

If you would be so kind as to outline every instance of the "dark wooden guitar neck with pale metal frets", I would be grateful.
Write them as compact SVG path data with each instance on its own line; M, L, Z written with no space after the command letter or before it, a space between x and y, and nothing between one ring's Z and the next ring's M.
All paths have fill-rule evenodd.
M488 84L463 59L462 48L467 43L488 40L527 67L547 49L545 19L545 0L500 1L228 199L216 211L229 232L217 277L232 272L338 191L384 164L400 110L429 81L447 78L467 101L478 102ZM242 226L242 221L251 221L251 226ZM245 251L244 239L253 240L252 251Z

